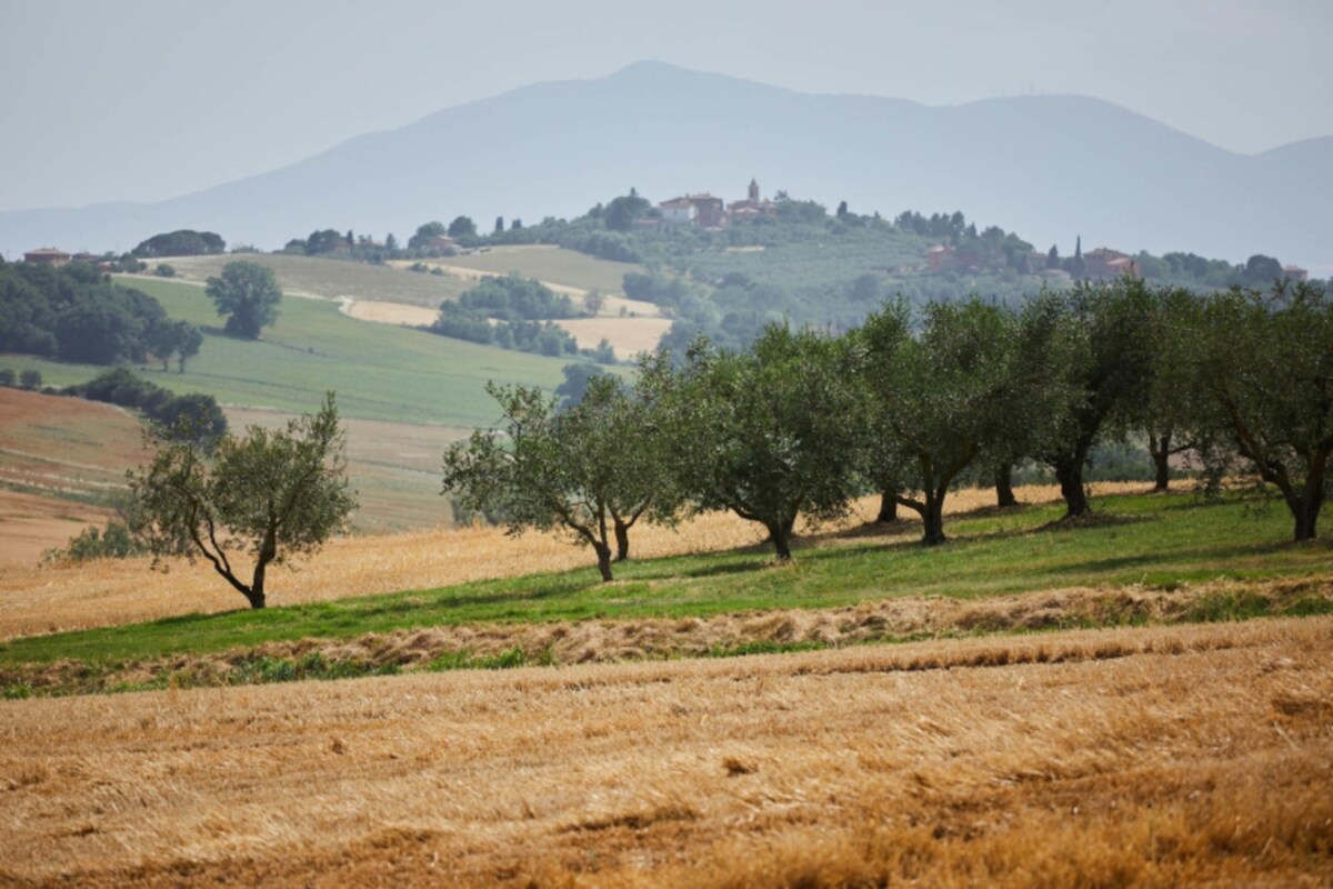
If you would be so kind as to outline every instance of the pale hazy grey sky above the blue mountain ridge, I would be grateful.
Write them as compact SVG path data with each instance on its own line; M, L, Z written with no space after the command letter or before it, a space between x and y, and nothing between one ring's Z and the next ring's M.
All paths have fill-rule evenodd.
M1333 135L1330 36L1330 0L0 0L0 209L163 200L645 59L930 105L1080 93L1252 153Z

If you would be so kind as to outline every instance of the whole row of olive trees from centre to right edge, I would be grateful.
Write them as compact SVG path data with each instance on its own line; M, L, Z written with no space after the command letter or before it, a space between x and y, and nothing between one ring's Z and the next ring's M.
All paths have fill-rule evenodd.
M788 560L798 516L837 518L868 490L882 520L912 509L938 545L950 489L985 480L1006 505L1024 461L1054 472L1078 518L1093 448L1129 435L1162 489L1186 448L1214 482L1253 470L1296 540L1316 536L1333 486L1333 312L1305 284L1198 296L1126 277L1017 309L897 300L841 336L773 324L746 349L647 356L632 385L596 377L564 408L491 393L504 419L448 449L444 493L511 533L569 532L605 580L640 517L730 510Z

